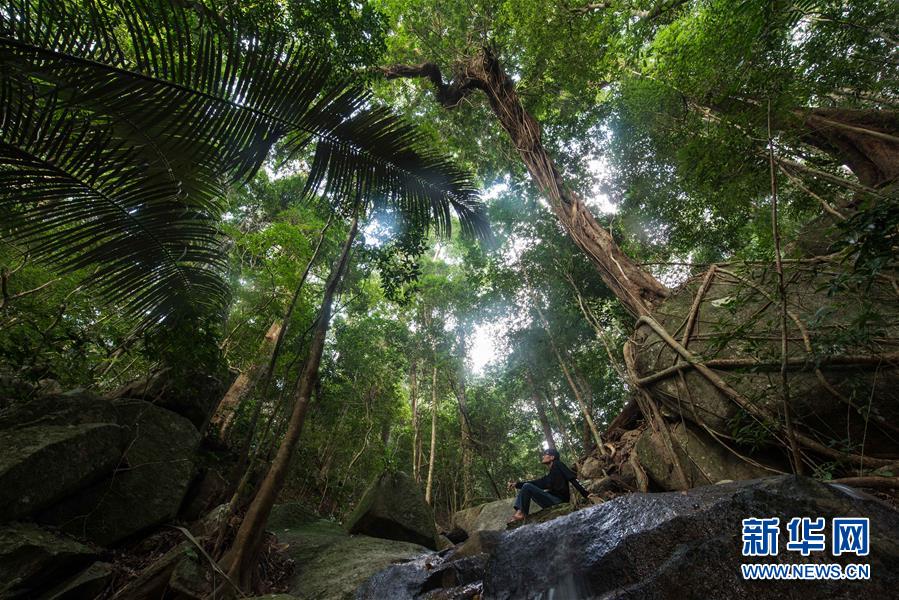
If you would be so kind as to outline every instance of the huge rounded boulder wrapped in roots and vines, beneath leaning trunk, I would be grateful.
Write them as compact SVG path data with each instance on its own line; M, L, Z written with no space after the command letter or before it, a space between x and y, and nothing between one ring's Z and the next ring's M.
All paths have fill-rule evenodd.
M793 423L824 446L899 457L899 369L884 350L899 339L896 292L884 278L831 295L842 269L839 264L784 263ZM685 332L694 306L695 326ZM740 427L747 437L777 444L759 421L770 416L783 422L781 310L772 265L713 266L653 311L667 340L652 321L640 322L625 345L631 377L674 414L725 436ZM866 329L859 323L873 322L877 333L871 335L882 343L859 335ZM677 346L686 347L726 387L685 360ZM756 414L747 414L747 407Z

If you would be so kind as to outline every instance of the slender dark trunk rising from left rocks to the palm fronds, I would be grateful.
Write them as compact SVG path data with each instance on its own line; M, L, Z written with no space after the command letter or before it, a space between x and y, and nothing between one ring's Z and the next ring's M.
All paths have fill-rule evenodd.
M284 487L284 480L290 468L290 461L300 440L303 421L306 417L306 408L309 405L309 397L318 377L318 368L321 364L322 352L325 346L325 335L328 333L328 326L331 322L331 308L334 303L334 296L343 278L343 273L349 260L350 248L353 245L353 240L356 238L358 224L358 214L355 214L340 256L334 262L331 274L325 283L321 311L312 334L312 342L309 346L309 354L303 365L300 383L297 386L293 412L290 416L287 432L284 434L284 439L281 441L278 453L274 461L272 461L265 479L259 486L256 497L247 509L247 514L240 524L240 529L237 531L231 550L222 559L223 567L227 570L228 575L244 589L248 589L252 582L253 567L256 563L262 535L265 532L265 523L268 521L278 493Z

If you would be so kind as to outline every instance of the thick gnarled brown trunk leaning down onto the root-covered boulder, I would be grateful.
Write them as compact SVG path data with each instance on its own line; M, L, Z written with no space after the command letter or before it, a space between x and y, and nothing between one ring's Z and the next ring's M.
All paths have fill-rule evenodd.
M436 88L438 101L447 109L459 106L472 91L482 90L556 217L615 296L634 315L649 315L653 305L668 296L668 288L621 251L612 234L590 213L583 198L565 184L543 147L540 124L525 110L515 84L490 49L485 48L456 64L456 79L450 84L443 82L440 69L433 63L393 65L381 72L388 79L429 79Z

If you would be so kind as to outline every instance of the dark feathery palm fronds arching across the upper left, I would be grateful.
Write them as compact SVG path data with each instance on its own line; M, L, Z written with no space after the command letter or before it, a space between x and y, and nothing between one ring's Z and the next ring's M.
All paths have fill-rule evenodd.
M4 234L62 269L98 265L144 324L227 300L224 187L289 136L319 140L308 191L388 202L487 235L470 180L327 63L178 0L0 4Z

